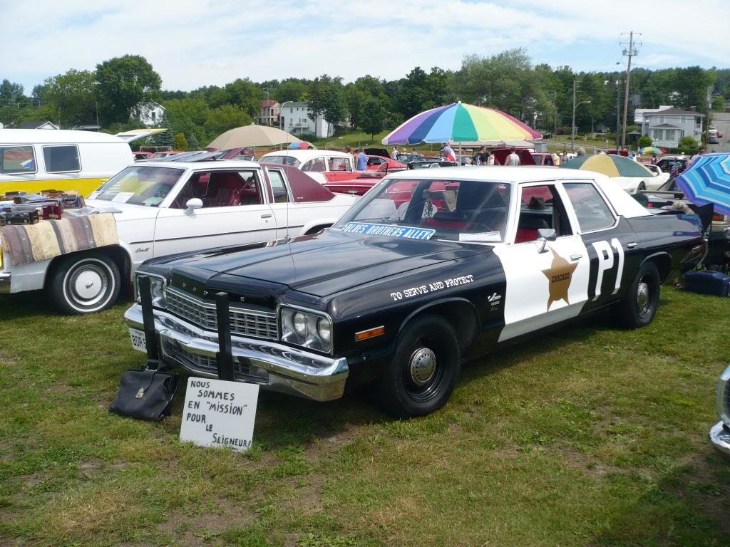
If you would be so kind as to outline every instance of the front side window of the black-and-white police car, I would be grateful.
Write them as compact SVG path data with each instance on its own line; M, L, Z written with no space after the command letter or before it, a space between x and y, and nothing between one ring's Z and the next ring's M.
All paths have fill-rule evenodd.
M555 185L523 187L515 243L537 241L537 230L553 228L556 236L570 236L572 229Z

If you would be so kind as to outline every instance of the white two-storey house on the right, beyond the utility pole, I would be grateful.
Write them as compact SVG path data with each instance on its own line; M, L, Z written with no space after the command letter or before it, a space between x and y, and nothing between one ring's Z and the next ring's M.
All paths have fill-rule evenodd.
M649 136L654 146L677 148L685 136L702 143L702 118L704 115L699 112L662 106L656 110L644 109L637 124L641 126L642 135Z

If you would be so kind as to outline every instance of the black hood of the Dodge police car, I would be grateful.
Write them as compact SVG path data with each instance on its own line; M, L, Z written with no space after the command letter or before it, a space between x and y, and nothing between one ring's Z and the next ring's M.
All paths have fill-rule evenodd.
M255 284L283 284L323 297L417 268L431 268L489 252L493 248L456 241L364 236L339 230L325 230L314 236L255 247L198 252L178 257L170 265L173 275L179 271L196 279L226 279L234 285L256 280ZM230 289L235 291L237 287Z

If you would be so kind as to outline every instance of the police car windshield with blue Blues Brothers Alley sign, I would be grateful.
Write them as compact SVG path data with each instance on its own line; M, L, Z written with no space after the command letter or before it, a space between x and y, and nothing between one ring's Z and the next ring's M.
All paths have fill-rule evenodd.
M510 185L450 179L384 179L334 228L417 239L504 241Z

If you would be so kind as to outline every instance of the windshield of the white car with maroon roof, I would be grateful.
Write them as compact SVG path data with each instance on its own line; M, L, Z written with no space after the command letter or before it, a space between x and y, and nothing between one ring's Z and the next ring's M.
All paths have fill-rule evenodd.
M104 182L89 198L156 207L184 172L167 167L128 167Z

